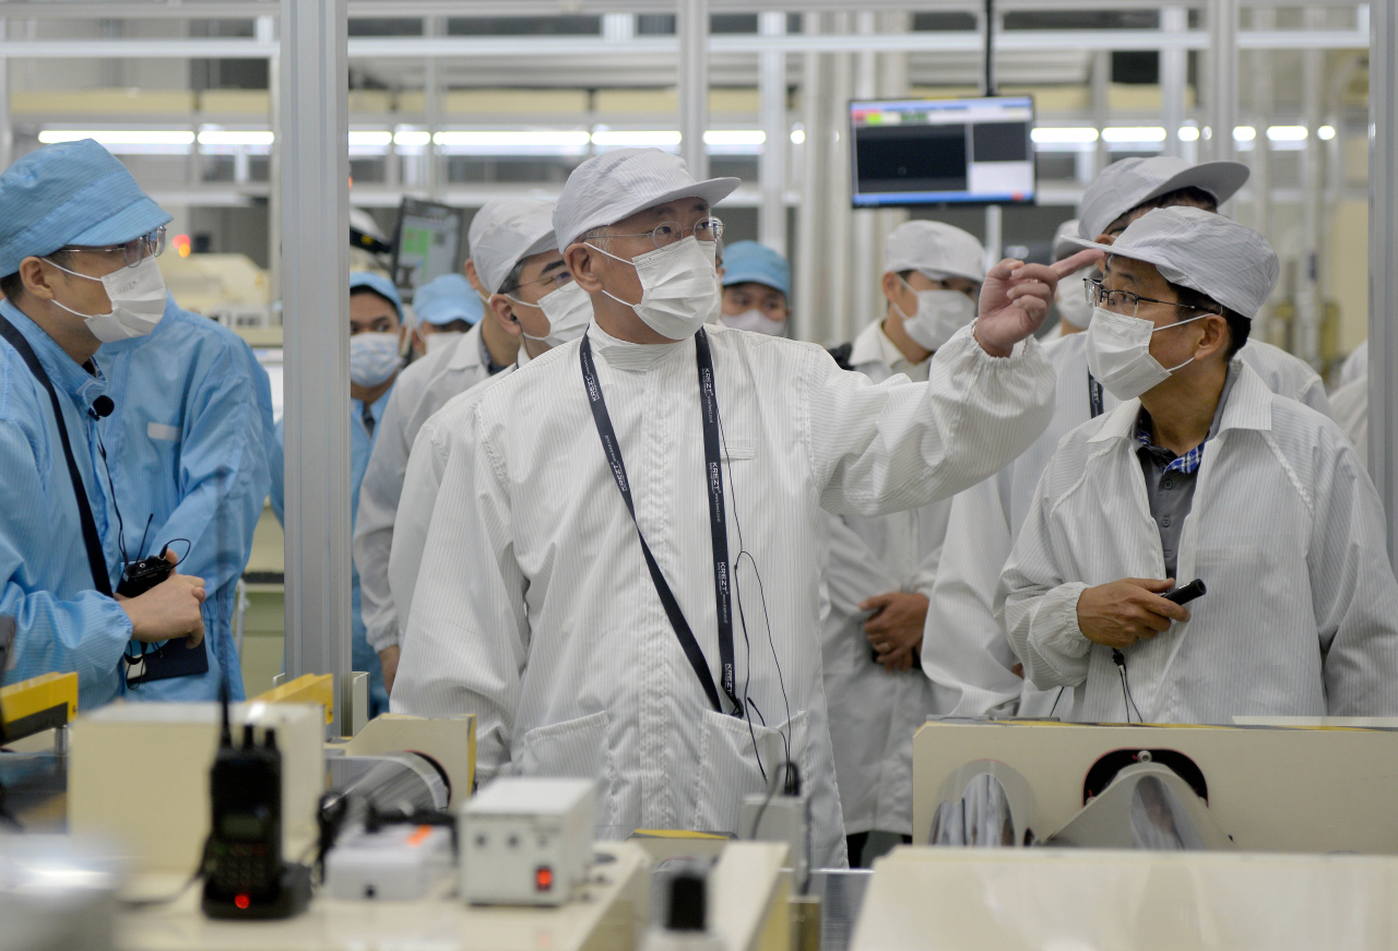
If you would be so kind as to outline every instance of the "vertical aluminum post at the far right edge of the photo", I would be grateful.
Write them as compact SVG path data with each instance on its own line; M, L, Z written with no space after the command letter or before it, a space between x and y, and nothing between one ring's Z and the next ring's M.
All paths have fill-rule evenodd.
M1398 10L1370 7L1369 48L1369 474L1398 554Z

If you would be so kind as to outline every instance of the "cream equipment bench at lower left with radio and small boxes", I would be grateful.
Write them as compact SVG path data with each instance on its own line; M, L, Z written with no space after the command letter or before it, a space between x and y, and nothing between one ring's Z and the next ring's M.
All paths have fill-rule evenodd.
M596 842L591 780L475 790L474 717L327 738L334 696L75 716L74 674L4 688L0 948L819 947L781 829Z

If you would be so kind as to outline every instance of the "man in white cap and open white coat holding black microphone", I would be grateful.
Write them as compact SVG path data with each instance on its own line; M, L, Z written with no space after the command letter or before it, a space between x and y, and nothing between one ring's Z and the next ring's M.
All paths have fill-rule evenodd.
M1276 253L1197 208L1076 243L1107 252L1088 364L1121 403L1060 443L1001 576L1025 675L1075 688L1079 722L1398 713L1378 494L1339 427L1234 359Z

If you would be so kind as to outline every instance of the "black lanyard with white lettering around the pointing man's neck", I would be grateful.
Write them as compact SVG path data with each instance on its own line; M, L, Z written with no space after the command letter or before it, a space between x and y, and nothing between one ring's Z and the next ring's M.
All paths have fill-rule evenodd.
M695 639L695 632L685 620L684 611L679 610L675 593L670 589L670 583L665 582L665 576L661 573L660 565L656 564L654 555L650 554L650 545L646 544L646 537L640 531L640 523L636 520L636 503L630 496L630 481L626 478L626 464L621 457L621 443L617 441L617 431L612 428L611 415L607 413L607 400L603 397L603 387L597 382L597 368L593 365L593 345L586 333L583 334L577 354L583 365L583 386L587 389L587 401L591 404L597 435L603 441L603 452L607 453L607 464L611 469L612 478L617 480L617 488L621 489L621 498L626 503L626 510L630 512L632 523L636 526L636 537L640 538L640 551L646 555L646 568L650 571L650 580L656 586L656 594L660 596L660 603L665 608L670 625L675 629L675 638L679 639L679 646L684 649L685 657L689 659L689 666L693 667L695 674L699 677L699 682L709 696L709 703L713 705L714 710L721 713L723 703L713 684L713 674L709 673L709 662L705 659L703 650L699 648L699 642ZM733 703L733 715L742 716L742 703L738 702L733 666L733 594L728 586L728 523L724 517L723 474L719 463L719 403L713 383L713 355L709 352L709 338L703 329L695 334L695 362L699 366L699 406L703 413L705 481L709 485L709 530L713 543L713 590L719 608L719 662L723 666L723 692L728 696L728 702Z

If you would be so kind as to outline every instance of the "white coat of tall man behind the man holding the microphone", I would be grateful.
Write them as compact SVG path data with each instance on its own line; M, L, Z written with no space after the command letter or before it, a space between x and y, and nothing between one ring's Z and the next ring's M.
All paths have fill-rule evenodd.
M937 713L1014 712L1018 701L1022 715L1040 715L1057 698L1057 688L1044 695L1011 671L1018 657L995 618L994 599L1000 572L1058 441L1092 418L1085 347L1082 333L1044 347L1044 357L1058 376L1053 422L1023 456L952 501L945 558L923 635L923 671L932 681ZM1325 386L1303 361L1261 341L1248 341L1239 358L1274 393L1329 415ZM1107 411L1117 406L1117 399L1106 390L1102 401ZM1067 694L1062 702L1068 702Z

